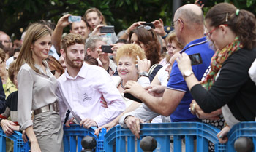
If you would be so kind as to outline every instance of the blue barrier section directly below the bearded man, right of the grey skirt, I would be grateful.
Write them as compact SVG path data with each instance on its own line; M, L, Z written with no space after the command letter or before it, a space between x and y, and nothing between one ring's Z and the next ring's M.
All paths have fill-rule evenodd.
M96 152L104 151L103 142L106 129L102 129L102 132L99 133L99 137L97 137L97 135L94 135L96 129L97 127L85 129L83 127L80 127L78 124L70 125L70 127L64 127L64 152L80 152L82 150L81 140L86 135L94 137L94 139L96 140Z

